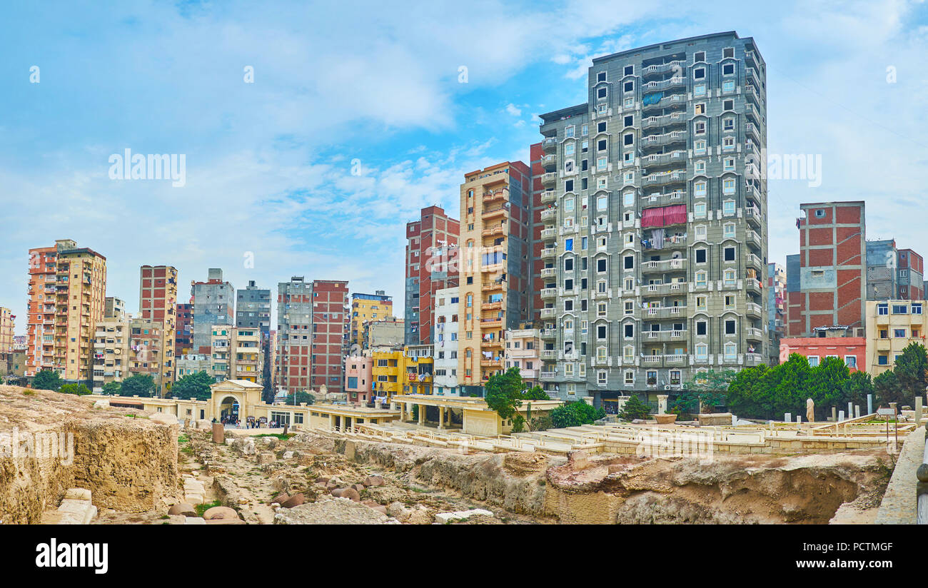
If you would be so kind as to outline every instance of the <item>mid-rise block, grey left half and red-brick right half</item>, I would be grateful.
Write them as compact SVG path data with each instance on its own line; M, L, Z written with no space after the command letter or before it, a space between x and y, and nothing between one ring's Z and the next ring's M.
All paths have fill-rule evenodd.
M347 281L294 275L277 284L278 387L342 391L349 308Z

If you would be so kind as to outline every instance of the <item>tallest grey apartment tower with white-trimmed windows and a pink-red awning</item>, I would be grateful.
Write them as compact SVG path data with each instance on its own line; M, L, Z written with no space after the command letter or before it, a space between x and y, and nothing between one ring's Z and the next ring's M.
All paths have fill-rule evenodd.
M766 87L721 32L595 58L587 103L541 115L551 396L608 409L767 361Z

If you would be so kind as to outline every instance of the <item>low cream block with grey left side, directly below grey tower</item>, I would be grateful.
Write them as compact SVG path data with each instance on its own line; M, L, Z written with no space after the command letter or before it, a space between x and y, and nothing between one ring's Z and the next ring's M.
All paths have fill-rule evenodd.
M226 379L263 383L264 354L261 329L246 326L213 325L210 337L209 374L217 382Z

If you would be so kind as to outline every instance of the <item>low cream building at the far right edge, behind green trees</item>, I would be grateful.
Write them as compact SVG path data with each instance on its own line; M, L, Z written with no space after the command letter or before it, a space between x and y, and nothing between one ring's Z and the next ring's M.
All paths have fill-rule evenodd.
M867 365L876 377L893 369L909 343L925 345L925 300L867 300Z

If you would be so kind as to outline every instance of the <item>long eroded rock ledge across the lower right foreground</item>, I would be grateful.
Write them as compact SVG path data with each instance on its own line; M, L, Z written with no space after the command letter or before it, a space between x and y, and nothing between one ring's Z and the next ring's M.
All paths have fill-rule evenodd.
M307 441L310 441L307 439ZM711 460L614 454L460 454L319 436L362 463L534 518L565 523L827 523L842 506L875 502L879 450Z

